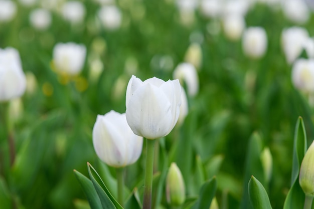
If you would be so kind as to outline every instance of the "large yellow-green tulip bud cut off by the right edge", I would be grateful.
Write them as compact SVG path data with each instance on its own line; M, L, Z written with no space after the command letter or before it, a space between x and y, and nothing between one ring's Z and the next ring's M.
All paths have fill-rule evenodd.
M308 147L300 167L299 184L305 195L314 196L314 143Z

